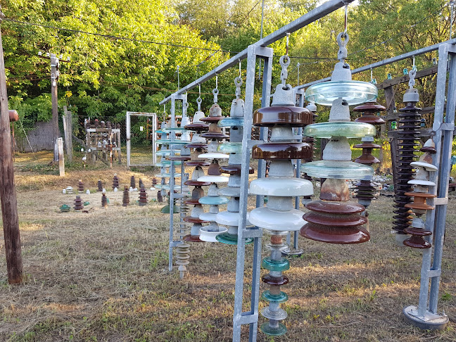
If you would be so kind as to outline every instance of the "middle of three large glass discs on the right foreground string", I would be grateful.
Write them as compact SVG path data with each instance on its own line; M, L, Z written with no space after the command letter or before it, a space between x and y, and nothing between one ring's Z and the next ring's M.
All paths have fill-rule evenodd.
M304 128L305 137L326 138L347 137L362 138L367 135L375 136L374 125L365 122L354 121L331 121L308 125Z

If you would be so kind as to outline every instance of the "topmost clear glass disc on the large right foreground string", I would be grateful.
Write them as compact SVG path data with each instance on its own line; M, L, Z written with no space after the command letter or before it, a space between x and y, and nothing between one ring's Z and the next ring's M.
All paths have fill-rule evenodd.
M378 91L374 84L362 81L329 81L313 84L305 91L305 99L324 106L331 106L336 99L349 105L374 102Z

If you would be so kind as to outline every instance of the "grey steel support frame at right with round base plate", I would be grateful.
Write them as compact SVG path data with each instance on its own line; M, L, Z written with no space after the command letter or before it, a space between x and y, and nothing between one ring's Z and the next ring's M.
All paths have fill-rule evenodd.
M454 40L454 39L453 39ZM448 72L449 61L449 74ZM448 80L448 87L447 87ZM444 115L446 96L446 113ZM436 108L433 122L433 141L437 153L433 155L433 164L438 165L438 172L431 172L429 180L436 186L429 187L429 193L437 195L429 198L429 205L435 210L426 213L426 230L433 232L428 237L431 248L423 252L421 286L419 289L418 308L411 305L403 310L406 319L424 329L443 329L448 323L448 316L439 315L438 288L441 279L443 240L445 236L445 218L448 205L448 177L451 171L451 148L455 127L456 108L456 45L441 44L438 47L438 72L436 85ZM429 286L430 283L430 286Z

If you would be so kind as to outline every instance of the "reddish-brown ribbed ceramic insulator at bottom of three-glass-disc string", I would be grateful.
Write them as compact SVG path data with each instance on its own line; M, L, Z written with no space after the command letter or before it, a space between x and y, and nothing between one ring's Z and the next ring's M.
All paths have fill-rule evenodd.
M327 243L362 243L370 235L362 224L367 217L361 216L365 208L356 203L327 203L314 201L305 205L311 210L303 215L306 223L300 234L308 239Z

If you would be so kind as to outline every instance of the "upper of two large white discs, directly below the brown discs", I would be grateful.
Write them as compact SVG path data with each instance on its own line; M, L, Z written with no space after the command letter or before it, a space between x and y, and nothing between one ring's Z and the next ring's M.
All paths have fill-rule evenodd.
M259 178L251 182L250 193L265 196L310 196L313 194L312 182L307 179Z

